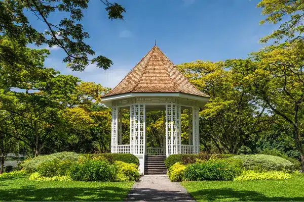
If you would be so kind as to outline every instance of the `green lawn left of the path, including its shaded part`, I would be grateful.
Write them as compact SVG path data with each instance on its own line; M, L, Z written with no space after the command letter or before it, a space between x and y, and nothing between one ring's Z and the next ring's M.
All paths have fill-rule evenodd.
M133 182L0 181L0 201L123 201Z

